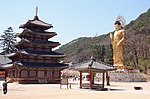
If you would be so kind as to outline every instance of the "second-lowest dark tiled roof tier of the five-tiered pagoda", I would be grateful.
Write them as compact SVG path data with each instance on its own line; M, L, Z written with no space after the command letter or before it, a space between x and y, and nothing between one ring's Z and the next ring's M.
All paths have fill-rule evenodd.
M65 57L64 54L62 53L58 53L58 52L54 52L54 51L36 51L36 50L21 50L21 51L17 51L16 53L11 53L8 55L5 55L9 58L11 57L15 57L18 54L24 54L24 55L32 55L32 56L47 56L47 57Z

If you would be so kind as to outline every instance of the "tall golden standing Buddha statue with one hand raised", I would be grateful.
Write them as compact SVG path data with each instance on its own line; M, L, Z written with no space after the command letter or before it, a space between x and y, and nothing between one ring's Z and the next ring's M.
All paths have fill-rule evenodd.
M110 38L113 46L113 65L116 67L124 67L125 28L122 27L120 21L116 21L114 27L114 34L110 33Z

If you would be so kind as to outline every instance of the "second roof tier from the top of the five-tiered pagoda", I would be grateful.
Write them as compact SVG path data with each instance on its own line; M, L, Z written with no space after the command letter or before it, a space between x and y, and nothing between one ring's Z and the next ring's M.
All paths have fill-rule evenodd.
M26 34L33 34L33 35L42 35L42 36L55 36L57 35L56 32L48 32L48 31L33 31L30 29L24 29L22 33L18 33L19 37L25 36Z

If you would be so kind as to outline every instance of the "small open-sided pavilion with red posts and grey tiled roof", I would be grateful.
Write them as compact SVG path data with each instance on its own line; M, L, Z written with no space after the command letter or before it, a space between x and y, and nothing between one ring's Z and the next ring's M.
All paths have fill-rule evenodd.
M89 89L103 89L105 84L105 73L107 73L108 71L116 70L116 68L112 65L108 65L103 62L96 62L96 60L93 58L86 62L73 64L70 66L70 69L77 70L80 72L80 88ZM82 83L82 73L90 74L90 83ZM96 73L102 73L102 84L94 83L94 76Z

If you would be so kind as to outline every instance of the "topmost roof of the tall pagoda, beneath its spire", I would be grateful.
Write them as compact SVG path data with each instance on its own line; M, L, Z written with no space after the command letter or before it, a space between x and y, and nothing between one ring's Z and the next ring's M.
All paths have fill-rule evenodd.
M19 28L31 28L31 27L41 27L44 30L52 28L52 24L41 21L38 16L35 16L33 20L28 20L25 24L19 26Z

